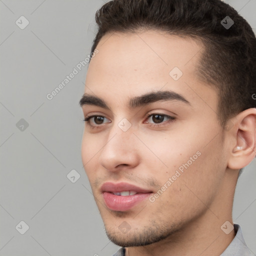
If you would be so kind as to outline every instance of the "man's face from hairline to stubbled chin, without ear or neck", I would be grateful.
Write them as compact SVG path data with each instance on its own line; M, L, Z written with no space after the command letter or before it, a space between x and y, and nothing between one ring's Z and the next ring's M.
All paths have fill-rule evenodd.
M84 117L98 117L85 122L82 162L109 239L149 244L216 200L226 169L217 94L196 76L202 47L192 39L114 33L97 50L84 93L109 109L83 101ZM130 102L152 92L158 97Z

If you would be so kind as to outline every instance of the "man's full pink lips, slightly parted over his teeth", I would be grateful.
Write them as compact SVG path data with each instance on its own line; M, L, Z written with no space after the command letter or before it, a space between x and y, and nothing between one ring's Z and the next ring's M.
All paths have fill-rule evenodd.
M135 191L134 195L115 195L113 193L121 191ZM145 200L152 193L151 190L138 187L126 182L112 183L105 182L101 186L101 192L107 208L115 211L127 211L133 206Z

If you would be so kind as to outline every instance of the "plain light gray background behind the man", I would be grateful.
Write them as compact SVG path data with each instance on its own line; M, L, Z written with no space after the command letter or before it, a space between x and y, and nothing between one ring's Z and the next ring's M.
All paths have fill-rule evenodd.
M256 0L226 0L256 28ZM0 0L0 256L112 255L82 167L87 66L46 98L90 53L102 0ZM25 16L20 29L15 21ZM228 15L228 13L227 13ZM255 29L254 29L255 31ZM23 118L28 127L16 123ZM22 125L22 120L20 121ZM80 178L72 183L67 174ZM256 253L256 161L238 179L233 221ZM25 221L22 235L15 228ZM23 227L22 227L23 228Z

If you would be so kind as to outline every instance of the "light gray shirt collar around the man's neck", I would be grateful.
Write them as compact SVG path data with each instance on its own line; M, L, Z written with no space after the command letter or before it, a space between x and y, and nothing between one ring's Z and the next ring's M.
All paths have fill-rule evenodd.
M255 256L247 247L238 224L234 224L234 231L236 234L233 240L219 256ZM113 256L125 256L125 248L120 248Z

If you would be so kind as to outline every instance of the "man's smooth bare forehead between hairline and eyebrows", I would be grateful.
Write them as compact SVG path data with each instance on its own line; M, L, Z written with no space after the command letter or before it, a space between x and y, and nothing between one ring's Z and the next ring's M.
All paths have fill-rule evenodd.
M215 107L213 89L196 75L203 51L198 40L155 30L114 32L105 34L96 48L98 53L87 71L85 93L106 99L115 93L116 100L122 96L127 100L152 89L171 89L188 95L189 101L198 101L198 97L209 99L211 95L209 103Z

